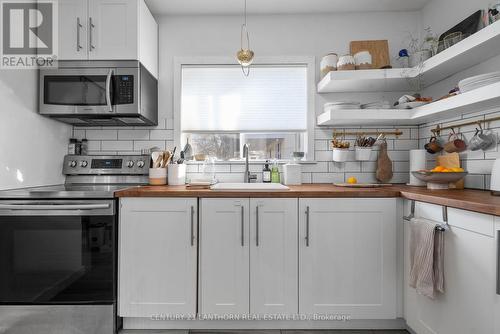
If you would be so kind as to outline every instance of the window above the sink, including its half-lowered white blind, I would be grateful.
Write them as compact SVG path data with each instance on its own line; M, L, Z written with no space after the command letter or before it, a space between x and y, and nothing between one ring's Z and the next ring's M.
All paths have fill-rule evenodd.
M181 141L218 160L289 159L308 150L308 64L182 65ZM307 153L307 152L306 152Z

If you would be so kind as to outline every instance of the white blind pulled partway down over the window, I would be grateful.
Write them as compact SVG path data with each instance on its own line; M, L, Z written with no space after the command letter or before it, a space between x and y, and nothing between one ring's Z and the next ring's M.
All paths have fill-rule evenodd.
M183 66L182 131L307 130L306 65Z

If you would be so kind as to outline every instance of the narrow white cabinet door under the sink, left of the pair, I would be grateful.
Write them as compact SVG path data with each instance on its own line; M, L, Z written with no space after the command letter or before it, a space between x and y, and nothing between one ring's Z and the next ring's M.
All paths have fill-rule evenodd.
M248 209L248 198L201 200L201 313L249 312Z

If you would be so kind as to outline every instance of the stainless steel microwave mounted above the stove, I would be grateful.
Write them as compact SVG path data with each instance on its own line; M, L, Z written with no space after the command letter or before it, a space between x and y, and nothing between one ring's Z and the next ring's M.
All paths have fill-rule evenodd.
M76 126L158 124L158 81L138 61L60 61L40 70L39 112Z

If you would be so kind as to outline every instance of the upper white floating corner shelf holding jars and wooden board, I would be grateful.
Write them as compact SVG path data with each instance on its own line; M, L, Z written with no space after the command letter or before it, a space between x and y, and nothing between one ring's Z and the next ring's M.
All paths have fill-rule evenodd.
M318 83L318 93L407 91L419 74L427 87L498 54L500 22L495 22L426 60L420 70L333 71Z

